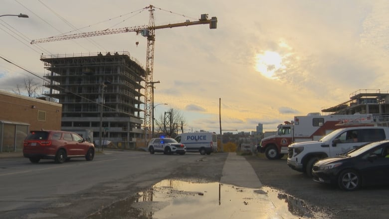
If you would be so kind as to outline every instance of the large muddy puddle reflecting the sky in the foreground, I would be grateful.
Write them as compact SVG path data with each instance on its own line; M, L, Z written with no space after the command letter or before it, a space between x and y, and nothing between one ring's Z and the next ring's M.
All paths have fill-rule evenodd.
M136 197L121 200L88 219L311 219L301 200L268 187L163 180Z

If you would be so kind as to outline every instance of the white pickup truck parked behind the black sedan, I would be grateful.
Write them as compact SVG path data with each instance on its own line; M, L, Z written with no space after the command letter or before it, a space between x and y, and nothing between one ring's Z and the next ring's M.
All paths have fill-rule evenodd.
M352 127L337 129L319 141L288 146L288 166L312 176L313 165L323 158L335 157L370 142L389 139L389 127Z

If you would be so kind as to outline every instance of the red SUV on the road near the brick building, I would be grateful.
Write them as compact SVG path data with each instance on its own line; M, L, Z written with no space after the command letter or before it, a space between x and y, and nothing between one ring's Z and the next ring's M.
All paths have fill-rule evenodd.
M23 156L31 163L53 159L63 163L74 157L93 160L95 147L76 133L65 131L31 131L24 139Z

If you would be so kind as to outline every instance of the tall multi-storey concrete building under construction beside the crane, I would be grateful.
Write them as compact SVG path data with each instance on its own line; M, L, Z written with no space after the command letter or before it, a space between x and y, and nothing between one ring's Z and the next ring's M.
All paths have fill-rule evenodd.
M104 145L134 148L143 138L145 69L128 52L42 55L45 94L62 104L62 130L92 130ZM99 145L98 143L97 145Z

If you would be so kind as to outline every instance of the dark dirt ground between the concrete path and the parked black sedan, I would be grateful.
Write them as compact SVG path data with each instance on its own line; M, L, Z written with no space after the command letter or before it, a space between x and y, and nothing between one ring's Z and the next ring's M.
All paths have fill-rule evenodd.
M389 186L362 188L345 192L337 187L319 184L292 170L281 160L268 160L263 154L245 156L264 186L284 191L304 201L312 211L326 212L332 219L387 219Z

